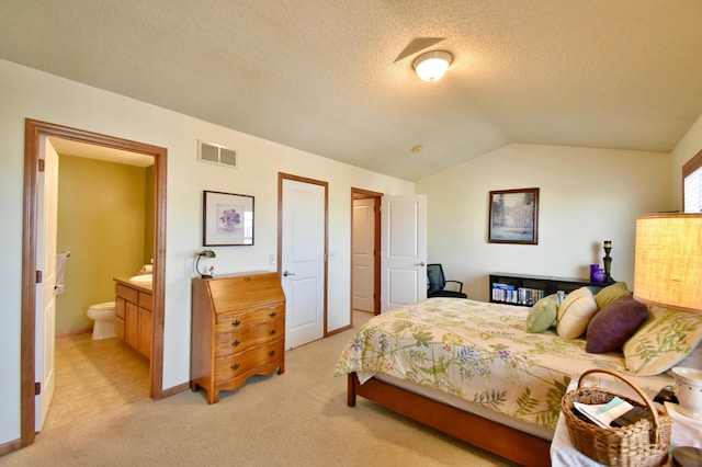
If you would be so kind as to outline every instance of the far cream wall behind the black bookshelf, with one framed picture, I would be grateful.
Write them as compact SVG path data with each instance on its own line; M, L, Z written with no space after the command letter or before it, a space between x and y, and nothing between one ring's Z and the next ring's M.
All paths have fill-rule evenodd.
M668 153L510 145L417 183L429 198L429 262L471 298L488 274L589 276L612 240L612 276L633 287L634 219L672 208ZM492 190L540 189L539 244L487 242Z

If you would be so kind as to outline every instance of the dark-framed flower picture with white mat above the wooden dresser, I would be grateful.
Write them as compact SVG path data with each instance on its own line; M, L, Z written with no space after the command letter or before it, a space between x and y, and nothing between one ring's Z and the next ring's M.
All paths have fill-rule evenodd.
M253 244L253 196L205 190L202 218L204 247Z

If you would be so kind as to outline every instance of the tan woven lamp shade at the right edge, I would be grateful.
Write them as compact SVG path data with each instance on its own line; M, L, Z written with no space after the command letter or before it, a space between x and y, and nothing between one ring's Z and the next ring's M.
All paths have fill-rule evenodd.
M702 312L702 214L636 218L634 297Z

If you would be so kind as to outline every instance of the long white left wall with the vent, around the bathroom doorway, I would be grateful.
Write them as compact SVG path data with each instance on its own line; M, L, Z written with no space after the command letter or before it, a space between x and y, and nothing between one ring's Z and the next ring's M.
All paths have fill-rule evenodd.
M351 187L388 195L414 184L234 132L0 60L0 444L20 436L20 324L24 119L34 118L168 149L163 389L190 378L193 254L202 250L202 191L256 197L256 244L216 248L216 274L274 270L278 172L329 182L328 327L350 322ZM238 151L239 169L197 162L197 140Z

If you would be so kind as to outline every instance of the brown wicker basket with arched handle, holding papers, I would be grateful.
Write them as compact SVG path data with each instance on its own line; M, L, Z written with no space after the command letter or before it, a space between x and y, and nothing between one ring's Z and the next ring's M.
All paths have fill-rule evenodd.
M582 387L587 375L605 373L631 386L646 403L609 392L597 387ZM653 414L653 423L642 419L622 428L600 428L580 420L573 413L573 402L607 403L614 397L626 400L632 406L647 407ZM607 368L592 368L580 375L578 387L566 394L561 408L568 426L573 445L586 456L609 466L660 466L668 458L672 420L668 413L658 411L650 398L621 374Z

